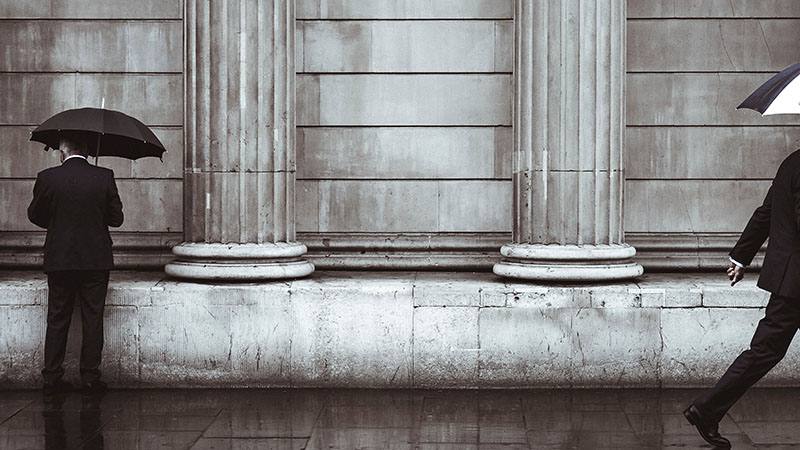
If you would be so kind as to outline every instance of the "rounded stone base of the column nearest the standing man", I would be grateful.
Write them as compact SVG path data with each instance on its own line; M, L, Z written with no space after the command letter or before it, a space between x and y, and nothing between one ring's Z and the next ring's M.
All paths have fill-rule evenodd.
M301 278L314 265L301 258L306 246L298 242L267 244L205 244L184 242L173 247L175 261L164 271L198 280L274 280Z

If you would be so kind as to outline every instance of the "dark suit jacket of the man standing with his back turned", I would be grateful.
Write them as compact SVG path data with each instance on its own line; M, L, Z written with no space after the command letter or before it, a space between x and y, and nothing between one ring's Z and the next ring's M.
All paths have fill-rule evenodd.
M108 227L122 225L122 202L114 172L70 158L39 172L28 219L47 228L44 272L110 270Z

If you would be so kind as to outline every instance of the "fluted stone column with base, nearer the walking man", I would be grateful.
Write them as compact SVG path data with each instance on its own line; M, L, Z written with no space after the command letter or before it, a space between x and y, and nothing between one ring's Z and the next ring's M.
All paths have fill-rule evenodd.
M498 275L643 270L624 243L624 0L516 0L513 243Z

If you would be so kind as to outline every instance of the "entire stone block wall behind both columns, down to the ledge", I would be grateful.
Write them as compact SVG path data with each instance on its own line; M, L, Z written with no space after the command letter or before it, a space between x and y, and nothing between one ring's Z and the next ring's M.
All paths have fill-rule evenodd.
M513 2L297 0L298 240L319 267L487 270L511 229ZM57 163L28 132L105 105L151 125L164 162L112 167L123 267L182 240L181 2L0 0L0 261L36 265L25 217ZM628 2L626 241L647 269L724 262L800 119L734 107L795 62L792 0ZM723 204L729 201L731 204ZM653 208L658 205L658 208ZM731 206L733 205L733 206Z

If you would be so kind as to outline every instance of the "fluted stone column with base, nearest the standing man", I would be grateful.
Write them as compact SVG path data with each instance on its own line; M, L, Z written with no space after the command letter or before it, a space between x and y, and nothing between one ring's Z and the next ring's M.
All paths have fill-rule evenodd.
M294 0L185 0L184 239L170 275L302 277Z

